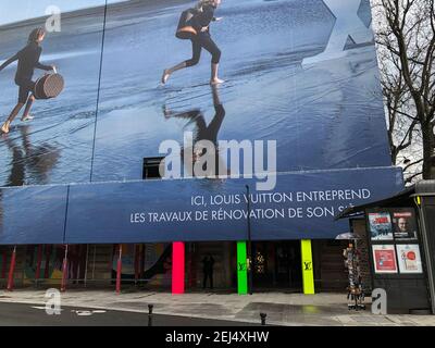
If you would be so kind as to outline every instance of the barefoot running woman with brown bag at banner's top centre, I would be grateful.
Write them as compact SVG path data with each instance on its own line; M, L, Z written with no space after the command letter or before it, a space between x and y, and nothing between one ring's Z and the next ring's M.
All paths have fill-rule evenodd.
M191 41L192 57L170 69L165 69L162 75L162 84L166 84L171 74L174 72L195 66L199 63L202 49L211 54L211 85L224 83L217 77L219 63L221 60L221 50L213 41L210 34L211 22L221 21L222 17L215 17L214 11L221 4L221 0L199 0L194 9L188 9L182 13L176 36L181 39Z

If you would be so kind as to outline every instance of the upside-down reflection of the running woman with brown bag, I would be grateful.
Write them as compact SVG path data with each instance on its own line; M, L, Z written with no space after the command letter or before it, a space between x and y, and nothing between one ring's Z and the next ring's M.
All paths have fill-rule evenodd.
M206 176L208 178L215 178L220 174L229 174L226 163L220 156L217 140L217 134L225 117L225 109L219 96L219 87L212 86L211 90L213 97L214 116L209 124L207 124L203 112L199 108L190 109L183 112L174 112L171 111L166 105L163 105L163 114L166 119L186 119L188 120L188 122L184 126L184 129L189 125L194 125L195 127L192 147L183 147L181 153L182 160L184 162L184 169L189 176L195 176L194 166L198 162L202 163L202 171L207 173ZM202 146L199 146L198 142L202 140L210 141L210 144L213 145L213 148L204 149ZM198 148L196 148L197 145ZM210 152L214 153L214 165L209 165L208 167L210 161L208 161L204 156L210 156ZM187 163L186 160L188 161Z

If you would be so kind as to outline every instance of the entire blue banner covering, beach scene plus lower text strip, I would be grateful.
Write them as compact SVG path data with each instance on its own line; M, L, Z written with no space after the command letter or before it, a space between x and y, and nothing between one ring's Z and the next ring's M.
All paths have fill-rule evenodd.
M195 34L179 39L186 10ZM237 240L248 217L253 239L348 232L340 209L402 188L371 21L369 0L8 1L0 187L63 186L1 189L0 244ZM53 73L62 94L33 100ZM185 159L202 140L228 175L249 169L223 142L275 144L276 187L141 182L144 159Z

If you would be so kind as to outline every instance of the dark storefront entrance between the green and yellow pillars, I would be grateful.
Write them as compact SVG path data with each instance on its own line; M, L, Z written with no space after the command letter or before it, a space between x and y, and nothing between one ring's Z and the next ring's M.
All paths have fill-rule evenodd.
M256 290L302 290L300 240L252 243L252 285Z

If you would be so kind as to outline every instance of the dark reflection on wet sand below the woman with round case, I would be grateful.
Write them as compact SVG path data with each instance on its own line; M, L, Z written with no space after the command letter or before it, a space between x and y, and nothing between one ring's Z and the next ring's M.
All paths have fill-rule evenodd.
M11 152L11 172L5 186L23 186L25 184L48 184L50 171L60 158L60 150L53 145L33 146L29 138L29 126L17 126L20 137L12 139L4 135L3 141ZM21 139L21 144L18 144ZM32 182L32 183L29 183Z

